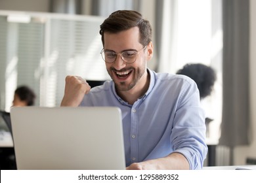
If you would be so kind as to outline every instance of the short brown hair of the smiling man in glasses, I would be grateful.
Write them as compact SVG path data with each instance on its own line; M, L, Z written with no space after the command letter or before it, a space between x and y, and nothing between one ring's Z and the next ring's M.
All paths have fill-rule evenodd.
M146 46L152 41L152 27L139 12L134 10L117 10L100 25L100 35L104 46L104 33L119 33L132 27L139 27L139 42Z

